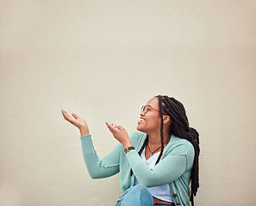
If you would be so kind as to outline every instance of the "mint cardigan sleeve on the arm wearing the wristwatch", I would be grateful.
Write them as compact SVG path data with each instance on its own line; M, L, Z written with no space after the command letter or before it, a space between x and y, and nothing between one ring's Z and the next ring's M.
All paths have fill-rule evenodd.
M132 168L134 175L140 181L140 184L147 187L170 184L178 179L183 173L191 169L191 162L194 159L194 148L191 144L187 144L187 152L183 148L175 148L165 156L159 163L150 168L141 160L139 154L132 150L126 157Z

